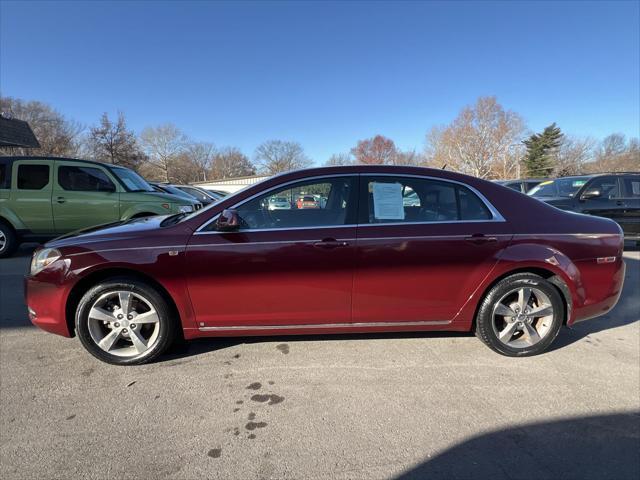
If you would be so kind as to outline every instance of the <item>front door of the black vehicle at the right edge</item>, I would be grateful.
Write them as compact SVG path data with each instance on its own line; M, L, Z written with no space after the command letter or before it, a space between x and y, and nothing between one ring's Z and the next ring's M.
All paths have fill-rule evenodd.
M598 191L596 197L590 192ZM624 201L620 195L620 183L615 175L594 177L578 192L579 212L615 220L619 224L624 217Z

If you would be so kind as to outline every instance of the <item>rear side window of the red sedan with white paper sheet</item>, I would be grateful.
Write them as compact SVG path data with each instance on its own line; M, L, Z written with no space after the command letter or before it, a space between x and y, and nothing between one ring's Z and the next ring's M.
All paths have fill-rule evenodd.
M493 217L470 189L450 182L414 177L374 177L368 181L368 221L455 222Z

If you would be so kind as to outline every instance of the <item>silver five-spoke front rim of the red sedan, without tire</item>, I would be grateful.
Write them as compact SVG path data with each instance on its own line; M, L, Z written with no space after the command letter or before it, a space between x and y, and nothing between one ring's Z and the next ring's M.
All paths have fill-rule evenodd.
M136 357L158 340L160 317L139 293L117 290L101 295L89 310L89 334L105 352Z

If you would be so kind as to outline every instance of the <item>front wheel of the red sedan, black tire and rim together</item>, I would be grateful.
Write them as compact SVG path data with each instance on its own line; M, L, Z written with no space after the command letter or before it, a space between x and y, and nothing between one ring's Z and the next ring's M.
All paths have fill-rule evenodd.
M172 343L175 325L166 301L154 288L126 278L96 285L76 310L82 345L114 365L151 361Z

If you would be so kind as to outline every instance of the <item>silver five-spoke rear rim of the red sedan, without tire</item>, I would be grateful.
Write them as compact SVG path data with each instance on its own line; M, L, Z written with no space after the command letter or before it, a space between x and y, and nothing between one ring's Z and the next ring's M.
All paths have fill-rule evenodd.
M553 325L551 300L535 287L511 290L493 308L493 330L504 345L527 348L539 343Z

